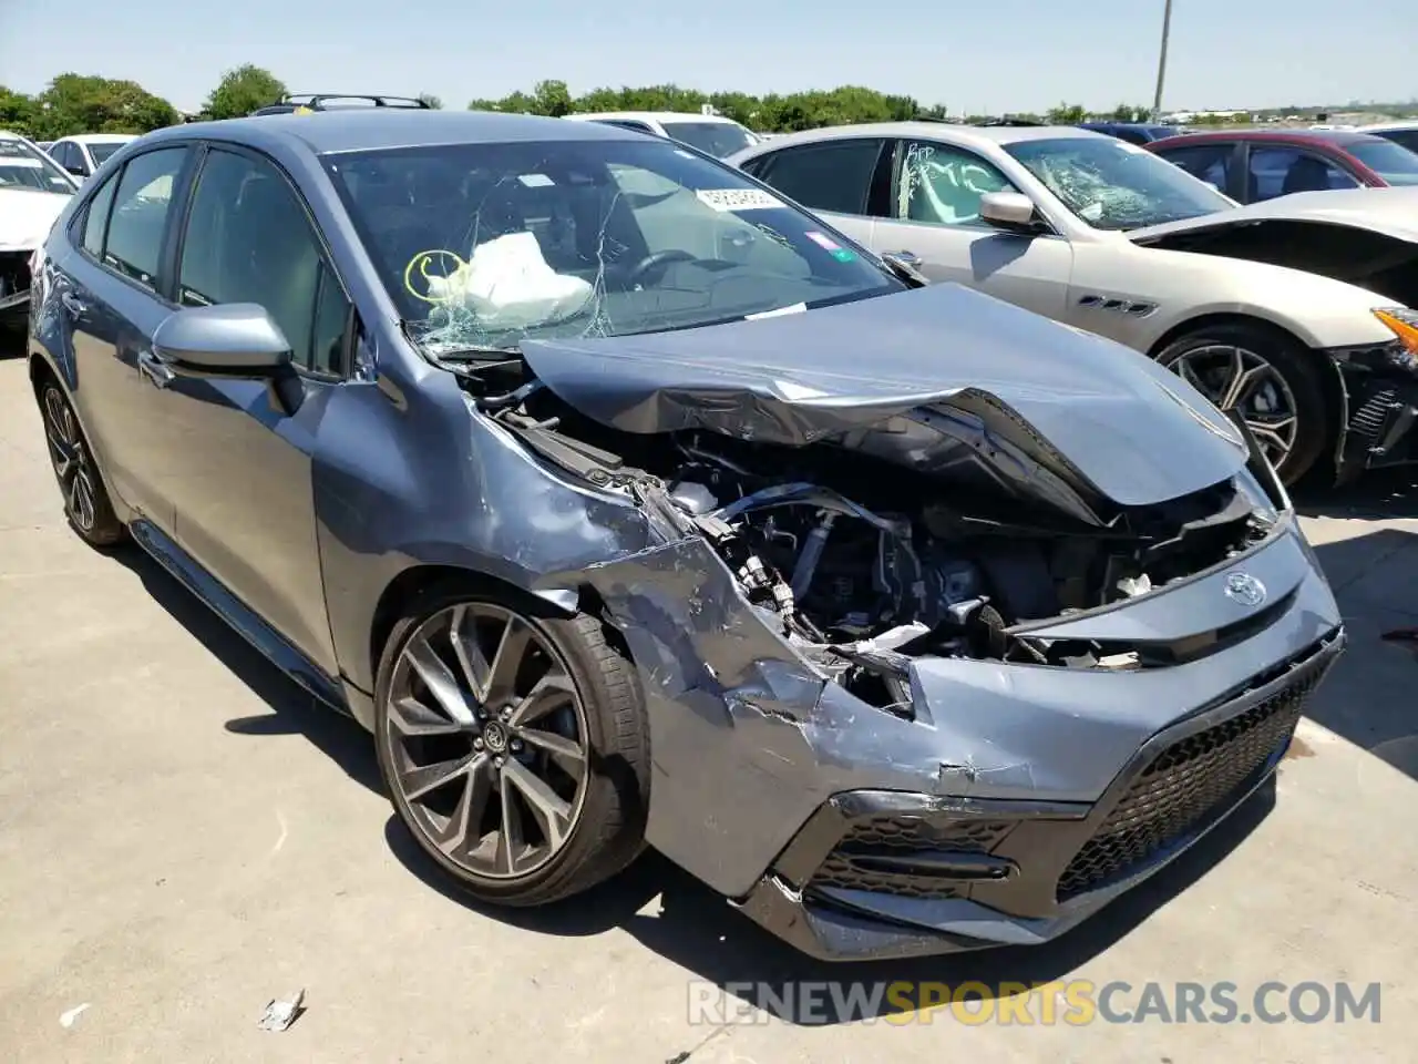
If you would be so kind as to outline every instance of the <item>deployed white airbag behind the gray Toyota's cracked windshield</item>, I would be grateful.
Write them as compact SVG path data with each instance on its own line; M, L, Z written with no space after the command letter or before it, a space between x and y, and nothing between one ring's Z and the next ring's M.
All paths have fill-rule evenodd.
M552 270L532 233L479 244L455 271L428 278L431 301L467 308L478 328L489 332L569 318L590 302L591 292L581 278Z

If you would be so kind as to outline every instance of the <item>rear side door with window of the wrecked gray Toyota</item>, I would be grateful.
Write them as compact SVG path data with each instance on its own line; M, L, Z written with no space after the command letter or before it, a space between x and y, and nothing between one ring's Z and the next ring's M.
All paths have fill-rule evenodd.
M173 199L191 152L186 145L136 155L75 217L77 251L61 265L64 335L74 360L74 401L119 499L173 532L170 451L147 383L153 331L176 309Z

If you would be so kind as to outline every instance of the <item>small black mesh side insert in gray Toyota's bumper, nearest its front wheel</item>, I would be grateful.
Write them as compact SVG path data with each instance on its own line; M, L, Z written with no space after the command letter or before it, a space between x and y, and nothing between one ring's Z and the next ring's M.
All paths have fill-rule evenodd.
M861 820L852 824L838 847L822 861L808 888L835 887L905 898L963 898L968 892L968 884L940 875L862 868L852 858L871 854L906 855L942 851L987 854L1011 827L1012 823L998 820L933 823L909 816Z

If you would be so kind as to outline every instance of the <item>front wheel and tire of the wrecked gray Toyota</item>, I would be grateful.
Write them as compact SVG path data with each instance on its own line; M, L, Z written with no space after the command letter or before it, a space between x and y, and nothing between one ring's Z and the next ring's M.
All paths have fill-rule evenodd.
M374 738L394 811L479 901L545 905L640 853L649 742L625 655L596 619L434 589L394 626Z

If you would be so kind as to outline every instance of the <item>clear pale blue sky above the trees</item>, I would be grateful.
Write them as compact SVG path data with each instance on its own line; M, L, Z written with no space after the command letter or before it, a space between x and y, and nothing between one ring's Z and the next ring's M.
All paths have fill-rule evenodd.
M325 14L311 14L312 9ZM197 109L220 72L445 106L560 78L791 92L839 84L953 112L1149 104L1163 0L0 0L0 84L130 78ZM1174 0L1163 105L1418 96L1418 0Z

